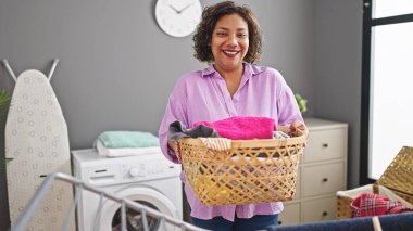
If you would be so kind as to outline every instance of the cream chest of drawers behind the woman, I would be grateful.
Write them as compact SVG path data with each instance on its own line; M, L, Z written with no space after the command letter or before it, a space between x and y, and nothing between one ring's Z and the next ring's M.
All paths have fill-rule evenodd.
M304 118L309 128L293 201L284 203L280 226L333 220L336 192L347 185L348 125L317 118Z

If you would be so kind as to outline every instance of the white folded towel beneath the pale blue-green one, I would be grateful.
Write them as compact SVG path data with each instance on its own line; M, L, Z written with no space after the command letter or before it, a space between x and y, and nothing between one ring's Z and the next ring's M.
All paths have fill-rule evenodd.
M162 153L160 146L109 149L104 146L99 140L96 142L96 149L98 153L104 157L122 157Z

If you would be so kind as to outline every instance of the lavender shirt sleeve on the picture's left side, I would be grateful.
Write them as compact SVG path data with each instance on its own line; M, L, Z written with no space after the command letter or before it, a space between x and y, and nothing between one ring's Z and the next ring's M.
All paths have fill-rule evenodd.
M158 133L162 153L167 159L174 163L179 163L179 161L176 157L175 152L167 146L167 130L171 123L176 120L182 121L186 127L188 127L185 99L185 88L183 87L183 82L178 81L167 101L165 114L162 118Z

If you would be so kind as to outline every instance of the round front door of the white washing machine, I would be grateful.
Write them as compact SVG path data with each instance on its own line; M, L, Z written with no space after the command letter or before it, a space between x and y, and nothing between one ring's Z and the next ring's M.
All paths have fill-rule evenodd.
M137 203L149 206L164 215L168 215L176 219L178 218L178 211L174 204L162 193L155 189L138 185L133 188L127 188L115 192L115 194L123 198L128 198ZM101 217L99 215L95 220L95 228L99 227L102 231L121 231L121 204L112 200L104 202ZM152 218L147 215L148 227L150 231L161 231L165 228L160 226L160 220ZM98 224L99 222L99 224ZM175 226L166 223L166 230L176 230ZM126 207L126 228L128 231L140 231L143 230L142 216L140 211L136 211L132 208Z

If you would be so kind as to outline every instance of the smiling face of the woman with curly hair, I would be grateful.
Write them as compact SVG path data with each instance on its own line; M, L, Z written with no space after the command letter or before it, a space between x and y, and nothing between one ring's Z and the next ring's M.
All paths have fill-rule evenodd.
M248 24L238 14L221 17L211 38L214 66L218 73L242 68L242 61L248 52Z

